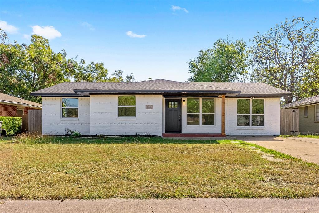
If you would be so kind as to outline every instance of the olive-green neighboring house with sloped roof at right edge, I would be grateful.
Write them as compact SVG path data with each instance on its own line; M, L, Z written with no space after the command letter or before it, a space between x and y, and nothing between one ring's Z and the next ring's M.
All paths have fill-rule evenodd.
M283 109L299 109L299 131L319 133L319 95L286 104Z

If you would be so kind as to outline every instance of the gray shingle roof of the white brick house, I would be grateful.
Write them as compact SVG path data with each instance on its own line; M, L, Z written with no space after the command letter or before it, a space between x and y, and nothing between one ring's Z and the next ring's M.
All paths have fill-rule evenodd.
M36 92L34 96L79 95L84 93L237 93L244 95L291 95L263 83L177 82L164 79L141 82L64 82Z

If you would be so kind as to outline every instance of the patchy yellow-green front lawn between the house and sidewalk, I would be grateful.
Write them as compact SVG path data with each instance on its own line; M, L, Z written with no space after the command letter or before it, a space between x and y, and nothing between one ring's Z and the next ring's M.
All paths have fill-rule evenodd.
M318 165L229 140L51 139L0 143L1 199L319 196Z

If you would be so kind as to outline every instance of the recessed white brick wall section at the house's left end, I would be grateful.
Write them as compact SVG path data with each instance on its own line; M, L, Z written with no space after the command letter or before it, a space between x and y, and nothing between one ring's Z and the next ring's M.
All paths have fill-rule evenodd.
M61 98L42 98L42 134L64 135L65 128L90 134L90 98L78 99L78 119L61 118Z

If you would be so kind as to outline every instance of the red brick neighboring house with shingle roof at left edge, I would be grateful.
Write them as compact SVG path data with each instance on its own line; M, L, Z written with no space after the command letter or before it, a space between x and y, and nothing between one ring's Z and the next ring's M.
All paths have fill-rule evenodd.
M16 114L28 114L29 109L42 109L42 105L0 93L0 116L13 117Z

